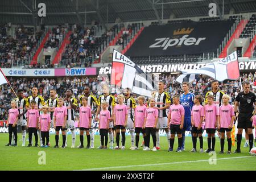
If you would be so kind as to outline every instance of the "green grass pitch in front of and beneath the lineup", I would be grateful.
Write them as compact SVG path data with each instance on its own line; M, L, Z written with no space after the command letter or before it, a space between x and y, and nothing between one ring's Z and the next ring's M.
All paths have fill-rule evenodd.
M189 152L192 148L191 137L186 137L185 151L167 152L168 144L166 137L160 137L161 150L142 151L129 150L131 146L130 136L126 136L126 149L122 150L99 150L100 136L95 136L94 149L70 148L71 135L68 135L67 148L53 148L55 135L51 135L51 147L22 147L21 134L18 134L18 146L5 147L8 143L9 134L0 134L1 165L0 170L255 170L256 156L250 156L249 148L243 148L245 140L241 143L241 154L221 154L220 139L216 138L217 164L209 164L211 158L207 153ZM33 136L34 140L34 136ZM151 139L152 140L152 139ZM139 144L142 142L140 138ZM60 143L62 137L60 135ZM26 141L26 145L28 142ZM80 144L79 135L76 136L76 146ZM86 137L85 143L86 146ZM115 146L115 145L114 145ZM150 144L152 148L152 141ZM225 139L225 151L228 143ZM174 148L177 148L175 138ZM204 150L207 148L207 140L204 138ZM232 147L232 151L236 146ZM46 152L46 165L39 165L39 151ZM197 140L197 151L199 151L199 140ZM230 158L230 159L226 159ZM166 164L167 163L167 164Z

